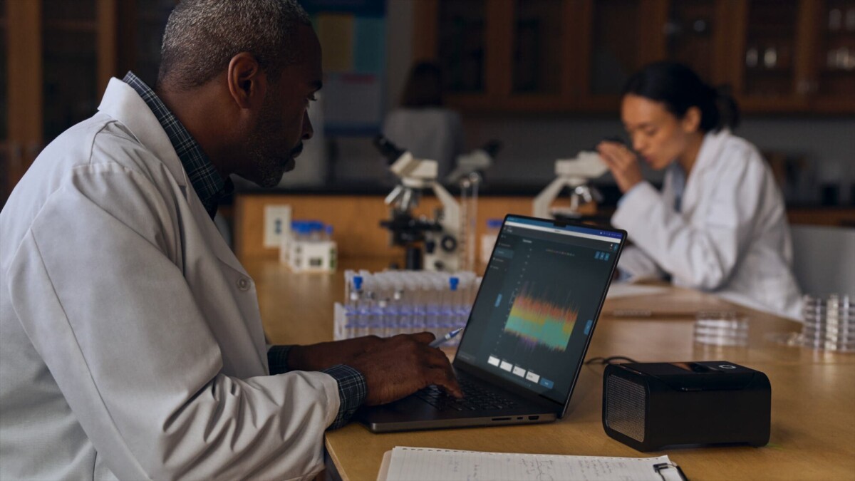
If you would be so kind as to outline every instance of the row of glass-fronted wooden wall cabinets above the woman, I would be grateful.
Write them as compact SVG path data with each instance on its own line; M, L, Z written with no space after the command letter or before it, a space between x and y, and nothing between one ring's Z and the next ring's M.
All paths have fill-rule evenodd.
M671 59L747 112L855 113L850 12L855 0L418 0L414 56L440 63L462 110L614 111L629 75Z

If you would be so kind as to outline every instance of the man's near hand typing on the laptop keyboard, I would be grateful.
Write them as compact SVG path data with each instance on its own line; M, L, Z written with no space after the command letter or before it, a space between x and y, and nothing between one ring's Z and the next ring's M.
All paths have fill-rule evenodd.
M428 332L380 339L347 363L365 376L369 389L365 403L374 406L397 401L431 384L462 397L445 353L428 346L433 339Z

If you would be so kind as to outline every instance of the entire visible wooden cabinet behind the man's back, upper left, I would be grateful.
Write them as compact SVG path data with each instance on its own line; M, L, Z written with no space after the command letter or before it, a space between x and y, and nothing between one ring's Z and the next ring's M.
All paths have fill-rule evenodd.
M95 113L110 77L156 79L174 4L0 0L0 205L44 145Z

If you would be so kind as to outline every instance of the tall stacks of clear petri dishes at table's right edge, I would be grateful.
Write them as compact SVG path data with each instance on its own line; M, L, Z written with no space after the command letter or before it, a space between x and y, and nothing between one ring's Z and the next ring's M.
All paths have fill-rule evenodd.
M805 295L802 345L826 351L855 352L853 300L847 294Z

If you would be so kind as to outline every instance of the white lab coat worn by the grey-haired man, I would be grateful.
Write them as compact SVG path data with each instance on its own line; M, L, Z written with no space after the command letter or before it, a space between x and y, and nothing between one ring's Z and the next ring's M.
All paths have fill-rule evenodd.
M257 293L130 86L0 213L0 478L311 478L339 409L268 376Z

